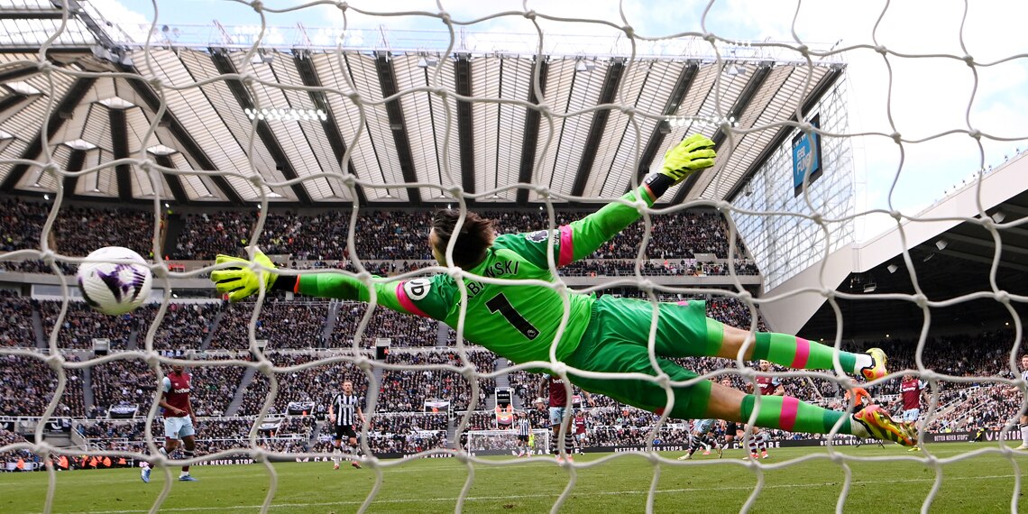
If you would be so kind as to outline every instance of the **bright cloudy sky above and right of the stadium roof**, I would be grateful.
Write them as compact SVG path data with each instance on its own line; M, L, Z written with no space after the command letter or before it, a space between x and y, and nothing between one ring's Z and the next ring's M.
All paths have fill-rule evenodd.
M108 20L126 26L149 24L154 17L150 1L91 3ZM265 11L267 26L302 24L308 31L343 26L340 9L309 3L264 1L267 9L295 9ZM249 4L230 0L155 0L155 5L158 27L167 24L191 33L211 31L214 21L225 27L261 23ZM348 5L392 12L439 12L437 3L430 0L356 0ZM453 0L442 1L442 7L460 22L527 8L558 17L607 21L616 26L627 23L636 34L647 37L709 32L731 40L798 45L798 39L815 47L836 44L835 48L852 48L840 57L848 66L850 134L867 134L852 138L858 212L895 209L915 215L962 182L972 181L983 167L998 166L1018 149L1028 148L1028 38L1023 37L1028 2ZM347 10L345 24L352 29L386 26L391 31L445 29L438 17L375 16L353 9ZM613 37L619 33L598 23L542 21L541 25L552 34ZM505 15L477 23L469 30L534 33L535 27L524 16ZM434 35L426 32L424 37ZM872 47L856 48L859 45ZM877 45L912 57L883 57L873 48ZM976 66L953 58L968 54ZM980 147L966 134L943 135L968 127L1008 141L983 137ZM887 136L893 133L918 142L897 145ZM885 215L861 216L856 223L857 238L870 238L891 223Z

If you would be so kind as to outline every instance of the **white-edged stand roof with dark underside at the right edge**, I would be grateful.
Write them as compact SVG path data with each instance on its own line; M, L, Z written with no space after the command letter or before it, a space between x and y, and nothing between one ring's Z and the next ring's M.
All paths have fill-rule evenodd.
M987 219L981 216L979 205ZM985 175L981 187L977 181L968 181L916 218L905 220L902 236L893 228L860 247L847 247L829 257L823 269L825 284L838 284L837 291L854 295L836 297L844 338L916 336L925 314L909 296L915 294L914 277L927 300L943 303L929 309L933 333L1013 328L1015 316L1022 324L1028 321L1028 152ZM995 227L995 235L989 225ZM914 273L904 258L904 247L910 248ZM1013 315L994 296L990 281L994 264L996 291L1009 295ZM805 277L770 293L818 287L821 271L819 265L812 266L801 273ZM908 296L889 296L894 294ZM776 330L825 339L836 334L835 310L819 294L773 302L762 311L772 313L771 318L781 322ZM780 318L775 311L787 311L796 319Z

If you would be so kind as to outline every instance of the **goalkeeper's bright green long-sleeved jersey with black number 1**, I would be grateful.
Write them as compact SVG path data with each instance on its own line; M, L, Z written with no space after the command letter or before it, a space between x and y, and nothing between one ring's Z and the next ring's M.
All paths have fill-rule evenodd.
M622 198L653 198L646 186ZM557 266L570 264L595 252L600 245L639 218L631 206L611 203L571 225L553 230L553 259ZM563 360L578 347L589 325L594 295L567 292L564 297L540 284L490 284L480 278L508 281L556 282L550 271L546 247L549 230L499 235L485 259L468 269L475 277L464 279L468 306L465 337L517 363L549 361L550 346ZM424 316L456 328L461 316L461 290L449 274L407 281L376 282L375 301L404 314ZM371 293L360 281L339 273L300 276L297 292L305 295L371 301ZM566 318L565 318L566 313ZM560 332L560 324L566 325ZM559 339L558 339L558 333Z

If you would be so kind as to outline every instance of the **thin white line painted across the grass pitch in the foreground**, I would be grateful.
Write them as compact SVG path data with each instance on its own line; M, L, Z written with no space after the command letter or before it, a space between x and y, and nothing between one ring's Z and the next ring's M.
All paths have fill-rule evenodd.
M1014 478L1017 475L989 475L980 477L949 477L947 480L992 480L1000 478ZM859 481L853 482L852 485L877 485L877 484L894 484L894 483L916 483L916 482L934 482L934 478L906 478L906 479L895 479L895 480L874 480L874 481ZM805 489L814 487L825 487L842 485L842 481L835 482L822 482L822 483L809 483L809 484L780 484L780 485L765 485L765 489ZM700 492L700 491L719 491L719 490L752 490L754 487L747 486L724 486L724 487L681 487L673 489L657 489L657 494L669 494L675 492ZM646 490L619 490L619 491L597 491L591 492L593 495L613 495L613 494L648 494L649 491ZM560 493L554 492L550 494L504 494L497 497L468 497L465 502L493 502L499 500L524 500L533 498L552 498L556 500ZM375 500L371 505L386 505L386 504L412 504L412 503L423 503L423 502L456 502L457 497L448 498L412 498L412 499L402 499L402 500ZM302 504L271 504L271 509L300 509L306 507L331 507L333 505L361 505L364 501L344 501L344 502L317 502L317 503L302 503ZM257 505L235 505L235 506L220 506L220 507L180 507L180 508L160 508L160 512L204 512L204 511L228 511L228 510L241 510L241 509L260 509L261 504ZM71 514L136 514L142 512L150 512L149 509L146 510L117 510L117 511L75 511Z

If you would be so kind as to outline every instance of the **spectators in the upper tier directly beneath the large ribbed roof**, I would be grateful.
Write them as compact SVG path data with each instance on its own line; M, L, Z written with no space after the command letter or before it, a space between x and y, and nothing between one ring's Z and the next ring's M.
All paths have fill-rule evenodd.
M0 251L39 248L40 227L52 206L33 200L15 203L8 198L3 207ZM497 220L500 233L531 232L548 226L545 211L486 211L481 214ZM586 214L588 211L558 212L557 224L570 223ZM160 244L170 249L168 257L173 260L213 260L219 253L242 255L260 216L260 212L237 211L188 213L181 217L182 229L177 241ZM355 230L357 256L365 261L369 271L379 276L431 264L433 257L426 245L431 216L426 211L362 211ZM355 270L348 262L346 248L350 217L350 211L298 214L272 210L264 219L261 247L267 254L289 255L293 268ZM701 210L655 215L652 219L646 255L659 263L647 262L644 274L728 274L728 266L724 263L694 259L697 253L728 258L728 226L721 214ZM168 220L161 215L157 222L163 233ZM49 234L50 247L62 255L82 257L97 248L122 246L152 258L149 242L154 234L153 224L154 214L149 209L65 206ZM591 259L610 260L578 263L563 272L568 276L631 274L645 230L645 224L632 224L590 256ZM737 241L734 256L737 259L746 256L741 241ZM34 259L0 261L0 265L8 270L51 272L48 265ZM66 274L75 270L73 264L59 262L59 265ZM752 262L736 261L737 274L756 272Z

